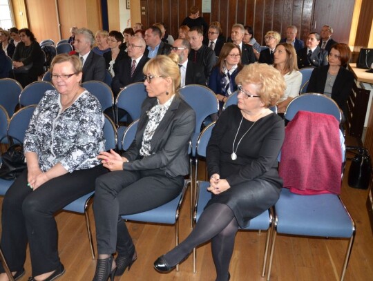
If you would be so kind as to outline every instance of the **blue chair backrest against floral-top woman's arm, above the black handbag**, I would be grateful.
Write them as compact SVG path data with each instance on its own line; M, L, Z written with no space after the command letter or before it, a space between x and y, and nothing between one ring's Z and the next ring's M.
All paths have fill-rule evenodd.
M34 113L35 108L36 105L26 106L18 110L17 113L10 118L8 137L12 137L15 143L23 142L28 124L30 124L32 113Z

